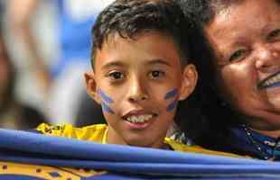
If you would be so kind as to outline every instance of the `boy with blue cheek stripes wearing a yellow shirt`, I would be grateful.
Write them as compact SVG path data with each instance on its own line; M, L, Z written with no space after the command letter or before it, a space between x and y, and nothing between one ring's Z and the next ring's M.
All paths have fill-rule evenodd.
M195 66L187 64L189 24L170 0L110 4L93 27L93 71L85 74L88 92L101 104L108 125L42 124L37 130L100 143L203 151L165 138L178 102L192 93L198 79Z

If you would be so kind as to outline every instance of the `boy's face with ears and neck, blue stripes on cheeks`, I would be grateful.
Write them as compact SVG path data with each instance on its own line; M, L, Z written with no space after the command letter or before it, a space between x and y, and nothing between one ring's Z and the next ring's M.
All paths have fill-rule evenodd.
M172 38L143 32L135 40L109 36L86 80L102 105L107 143L163 148L177 102L191 94L197 73L192 65L182 69Z

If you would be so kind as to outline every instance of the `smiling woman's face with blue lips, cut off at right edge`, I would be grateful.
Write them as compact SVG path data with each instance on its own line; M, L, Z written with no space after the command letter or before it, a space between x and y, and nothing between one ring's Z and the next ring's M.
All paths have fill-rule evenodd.
M205 27L220 94L257 130L280 128L280 4L245 0Z

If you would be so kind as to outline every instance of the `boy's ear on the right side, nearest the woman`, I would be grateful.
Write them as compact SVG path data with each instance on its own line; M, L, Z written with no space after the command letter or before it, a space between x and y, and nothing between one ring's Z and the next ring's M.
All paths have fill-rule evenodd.
M193 64L188 64L182 72L182 86L180 89L179 101L186 99L196 87L198 72Z

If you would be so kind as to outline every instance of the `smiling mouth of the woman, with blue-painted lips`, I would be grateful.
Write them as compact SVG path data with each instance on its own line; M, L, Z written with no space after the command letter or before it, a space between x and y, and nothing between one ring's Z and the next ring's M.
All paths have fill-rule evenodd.
M276 86L280 86L280 71L276 72L271 76L267 76L257 85L258 89L260 90Z

